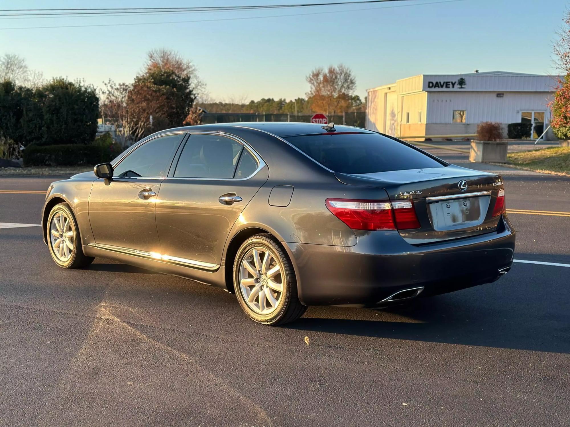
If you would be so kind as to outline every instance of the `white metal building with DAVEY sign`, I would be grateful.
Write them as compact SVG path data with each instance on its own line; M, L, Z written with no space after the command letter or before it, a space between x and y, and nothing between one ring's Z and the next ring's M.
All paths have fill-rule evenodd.
M538 138L556 85L557 76L504 71L408 77L368 89L366 128L397 137L467 135L492 121L506 136L509 123L529 122Z

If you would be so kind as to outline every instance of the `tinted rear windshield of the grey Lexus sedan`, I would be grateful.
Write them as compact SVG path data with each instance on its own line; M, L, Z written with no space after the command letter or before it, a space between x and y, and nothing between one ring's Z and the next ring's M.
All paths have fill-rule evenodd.
M303 153L343 174L444 167L421 151L376 133L286 137Z

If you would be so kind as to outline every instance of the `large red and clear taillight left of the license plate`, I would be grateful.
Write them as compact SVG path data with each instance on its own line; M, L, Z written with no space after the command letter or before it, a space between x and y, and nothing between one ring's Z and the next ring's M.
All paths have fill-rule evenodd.
M396 230L420 228L411 200L327 199L327 209L353 230Z

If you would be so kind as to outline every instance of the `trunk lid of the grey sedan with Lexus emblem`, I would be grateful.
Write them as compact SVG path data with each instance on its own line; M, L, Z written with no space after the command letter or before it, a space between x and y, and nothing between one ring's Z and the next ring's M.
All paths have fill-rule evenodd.
M410 244L426 244L493 232L499 175L449 165L371 174L335 174L349 185L381 187L393 202L412 199L421 227L400 230Z

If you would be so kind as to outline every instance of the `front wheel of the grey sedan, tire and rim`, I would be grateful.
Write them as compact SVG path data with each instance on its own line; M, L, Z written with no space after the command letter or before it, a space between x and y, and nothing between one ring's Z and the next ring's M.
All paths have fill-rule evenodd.
M95 258L83 253L79 226L67 203L52 208L46 227L47 246L55 264L62 268L82 268L93 262Z

